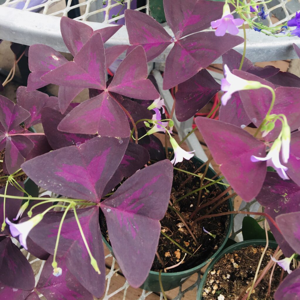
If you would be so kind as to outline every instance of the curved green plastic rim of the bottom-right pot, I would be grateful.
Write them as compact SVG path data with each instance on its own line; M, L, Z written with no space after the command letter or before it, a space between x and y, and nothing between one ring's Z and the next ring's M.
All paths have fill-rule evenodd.
M209 264L208 268L206 269L205 273L203 274L203 277L202 277L201 282L198 287L198 293L197 293L196 300L202 300L202 293L203 293L204 286L206 284L207 275L214 268L214 265L219 261L220 258L222 258L227 253L232 253L233 251L240 250L244 247L253 246L253 245L265 246L265 244L266 244L266 240L247 240L247 241L242 241L242 242L233 244L233 245L227 247L226 249L224 249L222 252L220 252L214 258L214 260ZM275 241L269 241L269 247L271 247L272 249L276 249L277 243Z

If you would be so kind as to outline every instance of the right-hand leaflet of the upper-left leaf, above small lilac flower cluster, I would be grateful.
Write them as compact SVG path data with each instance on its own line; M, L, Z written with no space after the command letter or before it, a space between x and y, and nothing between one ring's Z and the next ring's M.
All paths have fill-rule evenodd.
M142 46L137 46L119 65L108 90L131 98L156 99L159 93L147 77L145 51Z

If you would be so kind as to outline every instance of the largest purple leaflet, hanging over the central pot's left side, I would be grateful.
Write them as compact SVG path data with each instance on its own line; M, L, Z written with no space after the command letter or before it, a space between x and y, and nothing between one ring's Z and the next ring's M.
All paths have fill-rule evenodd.
M151 269L172 182L173 165L160 161L135 173L101 202L113 253L133 287L139 287Z

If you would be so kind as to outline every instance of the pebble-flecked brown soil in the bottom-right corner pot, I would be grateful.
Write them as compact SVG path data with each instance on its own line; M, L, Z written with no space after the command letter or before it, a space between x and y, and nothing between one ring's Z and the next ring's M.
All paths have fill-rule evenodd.
M237 300L245 293L244 289L254 279L263 246L248 246L233 253L225 254L208 273L203 289L203 300L217 300L223 295L226 300ZM260 271L267 265L274 250L268 248L260 266ZM285 272L286 273L286 272ZM281 268L276 265L272 276L271 292L267 297L271 269L252 292L251 300L273 300L281 275ZM286 274L285 274L286 275ZM242 295L243 293L243 295ZM223 297L222 297L223 298Z

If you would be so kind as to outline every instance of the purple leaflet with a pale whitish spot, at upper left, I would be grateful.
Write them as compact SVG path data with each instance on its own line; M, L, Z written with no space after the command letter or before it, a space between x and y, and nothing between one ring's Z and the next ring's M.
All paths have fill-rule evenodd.
M32 45L29 47L28 64L29 74L27 82L27 91L34 91L48 84L41 79L41 76L67 63L58 51L55 51L46 45Z

